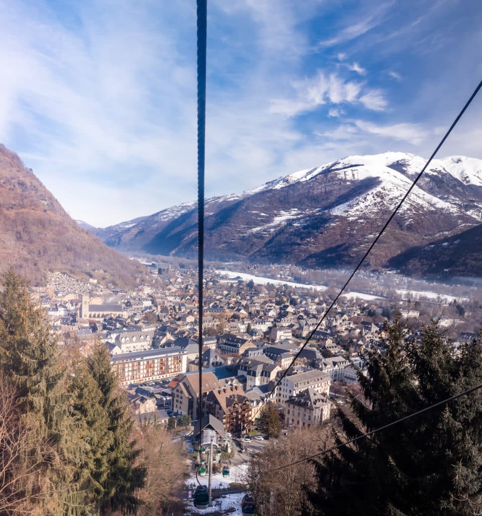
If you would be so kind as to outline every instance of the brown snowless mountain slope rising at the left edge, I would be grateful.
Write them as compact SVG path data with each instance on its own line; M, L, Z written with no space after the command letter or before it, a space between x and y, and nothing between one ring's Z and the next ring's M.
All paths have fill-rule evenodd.
M133 284L141 273L81 229L19 156L0 144L0 272L9 265L35 284L49 270L119 285Z

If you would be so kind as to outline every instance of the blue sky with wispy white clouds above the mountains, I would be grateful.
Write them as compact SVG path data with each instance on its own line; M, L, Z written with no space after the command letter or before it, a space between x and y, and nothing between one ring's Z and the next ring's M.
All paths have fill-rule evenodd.
M194 0L0 0L0 141L96 227L192 201ZM208 0L206 196L428 157L482 79L479 0ZM482 93L438 157L482 158Z

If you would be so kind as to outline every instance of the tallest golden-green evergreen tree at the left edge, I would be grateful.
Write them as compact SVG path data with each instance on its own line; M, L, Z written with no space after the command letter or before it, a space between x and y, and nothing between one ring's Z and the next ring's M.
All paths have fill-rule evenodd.
M4 373L18 392L23 422L32 429L32 441L52 445L46 457L40 456L41 448L26 447L29 452L22 460L38 464L37 482L27 494L43 514L82 514L77 466L85 443L72 413L67 365L43 312L31 302L26 281L13 269L6 273L0 295L0 353Z

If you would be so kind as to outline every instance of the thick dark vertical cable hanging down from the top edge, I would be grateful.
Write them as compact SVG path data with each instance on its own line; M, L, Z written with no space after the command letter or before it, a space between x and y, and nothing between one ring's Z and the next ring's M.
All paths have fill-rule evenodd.
M197 0L197 272L199 333L199 449L202 447L203 414L203 283L204 283L204 164L206 135L207 0ZM196 470L197 479L197 470ZM197 480L199 482L199 480ZM200 483L201 485L201 483Z

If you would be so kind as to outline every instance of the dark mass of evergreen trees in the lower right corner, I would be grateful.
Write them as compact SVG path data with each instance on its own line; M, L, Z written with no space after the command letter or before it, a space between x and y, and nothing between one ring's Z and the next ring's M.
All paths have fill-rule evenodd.
M387 352L368 353L364 400L340 408L338 444L482 383L482 338L454 352L436 324L407 342L386 325ZM443 515L482 509L482 393L461 397L316 462L320 514Z

